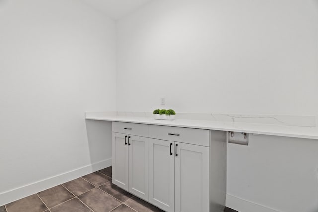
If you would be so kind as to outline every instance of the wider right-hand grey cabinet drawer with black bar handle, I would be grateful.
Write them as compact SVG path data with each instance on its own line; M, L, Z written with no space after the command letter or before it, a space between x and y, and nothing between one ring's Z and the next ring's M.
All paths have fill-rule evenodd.
M210 131L204 129L149 125L149 137L194 145L210 146Z

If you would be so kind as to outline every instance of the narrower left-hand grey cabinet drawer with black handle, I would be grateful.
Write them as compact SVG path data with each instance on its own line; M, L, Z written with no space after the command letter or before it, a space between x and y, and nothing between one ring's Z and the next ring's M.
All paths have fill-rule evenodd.
M149 127L145 124L113 122L113 132L148 137Z

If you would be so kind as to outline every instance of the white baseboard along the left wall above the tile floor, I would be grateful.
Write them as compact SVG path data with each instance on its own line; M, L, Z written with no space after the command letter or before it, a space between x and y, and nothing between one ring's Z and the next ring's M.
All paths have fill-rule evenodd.
M53 186L57 186L70 180L79 178L83 175L92 173L94 171L98 171L100 169L109 167L111 165L112 159L110 158L62 174L58 174L34 183L30 183L28 185L24 185L9 191L2 192L0 193L0 206L35 194L37 192L43 191L45 189L51 188Z

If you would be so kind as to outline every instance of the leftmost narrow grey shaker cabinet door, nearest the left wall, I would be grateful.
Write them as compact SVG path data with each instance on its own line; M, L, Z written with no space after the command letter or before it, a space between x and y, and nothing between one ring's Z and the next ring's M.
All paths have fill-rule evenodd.
M121 134L121 133L113 133L112 183L125 190L128 190L128 143L127 143L127 140L128 140L127 135Z

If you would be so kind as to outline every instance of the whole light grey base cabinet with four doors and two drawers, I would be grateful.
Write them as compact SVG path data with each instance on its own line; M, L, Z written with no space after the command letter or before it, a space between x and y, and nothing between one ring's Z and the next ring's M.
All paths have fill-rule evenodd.
M167 212L222 212L226 132L113 122L112 182Z

